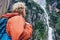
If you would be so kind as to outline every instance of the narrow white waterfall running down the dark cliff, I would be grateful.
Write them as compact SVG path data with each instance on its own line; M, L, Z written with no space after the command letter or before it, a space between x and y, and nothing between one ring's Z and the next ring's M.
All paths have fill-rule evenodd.
M45 17L45 21L46 21L46 24L47 24L47 31L48 31L48 38L47 40L53 40L53 29L49 26L49 16L48 16L48 13L46 12L46 9L43 7L43 10L45 12L44 14L44 17Z

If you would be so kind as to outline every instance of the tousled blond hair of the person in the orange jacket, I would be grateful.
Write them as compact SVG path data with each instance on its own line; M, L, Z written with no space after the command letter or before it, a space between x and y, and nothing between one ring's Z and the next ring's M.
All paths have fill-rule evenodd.
M18 12L19 13L19 8L22 5L22 7L24 7L24 9L26 8L25 3L24 2L17 2L15 4L12 5L12 12ZM17 10L18 9L18 10ZM22 15L25 16L25 10L22 13Z

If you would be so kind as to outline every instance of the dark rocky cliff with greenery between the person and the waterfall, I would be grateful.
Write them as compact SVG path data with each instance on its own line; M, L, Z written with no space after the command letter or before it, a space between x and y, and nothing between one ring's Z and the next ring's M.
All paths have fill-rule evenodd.
M26 6L26 21L33 25L32 40L45 40L46 29L44 26L44 19L41 20L41 15L44 11L32 0L28 0Z

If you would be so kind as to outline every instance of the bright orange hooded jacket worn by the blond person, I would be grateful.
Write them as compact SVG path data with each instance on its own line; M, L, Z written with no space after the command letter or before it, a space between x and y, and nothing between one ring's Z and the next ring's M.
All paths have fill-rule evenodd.
M12 40L29 40L32 36L32 26L25 22L22 16L19 16L18 13L8 13L4 14L3 17L9 18L6 32L12 37Z

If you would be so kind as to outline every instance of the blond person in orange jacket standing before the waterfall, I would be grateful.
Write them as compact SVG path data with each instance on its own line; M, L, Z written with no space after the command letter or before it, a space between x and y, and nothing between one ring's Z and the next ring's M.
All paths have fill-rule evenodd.
M7 18L6 32L12 40L29 40L32 36L32 25L25 21L25 3L17 2L12 6L12 13L2 15Z

